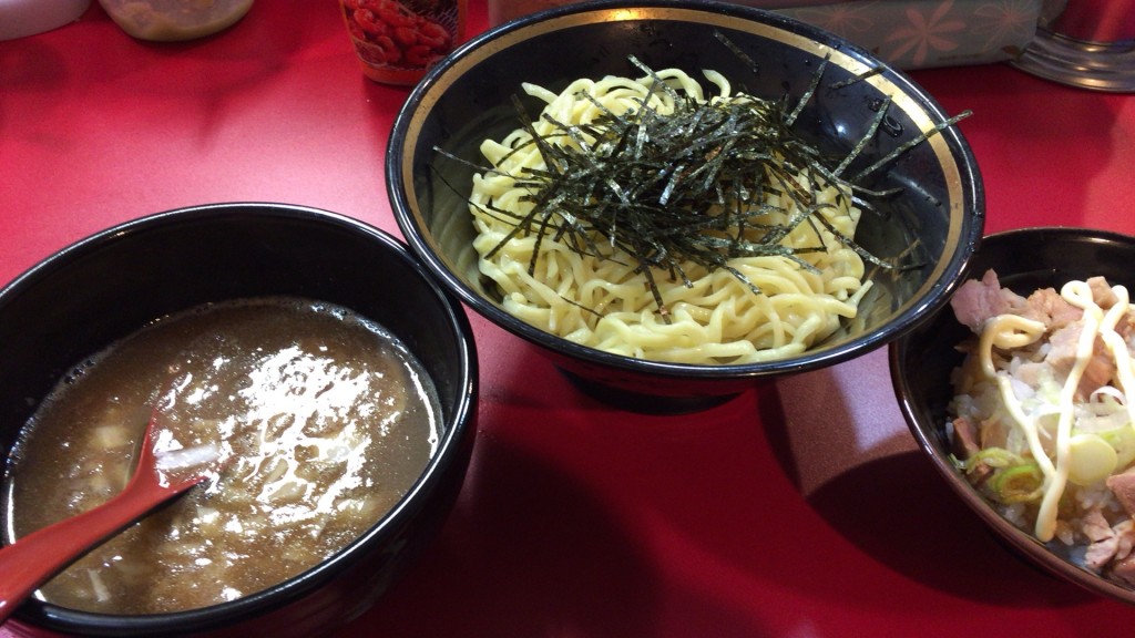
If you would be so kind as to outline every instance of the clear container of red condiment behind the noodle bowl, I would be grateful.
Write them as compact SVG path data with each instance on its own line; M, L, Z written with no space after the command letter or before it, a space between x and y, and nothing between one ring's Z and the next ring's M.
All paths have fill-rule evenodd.
M465 35L466 0L339 0L362 73L412 85Z

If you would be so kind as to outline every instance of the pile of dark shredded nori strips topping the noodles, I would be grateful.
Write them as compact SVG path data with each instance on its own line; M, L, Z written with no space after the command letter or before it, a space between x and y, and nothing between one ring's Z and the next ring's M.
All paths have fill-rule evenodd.
M738 47L724 35L717 34L717 39L756 72L757 65ZM859 182L969 115L967 111L908 141L847 179L843 171L875 136L891 101L888 98L881 102L869 129L846 157L829 157L807 143L792 126L819 90L826 58L793 108L788 107L787 99L768 100L745 92L729 99L698 101L670 87L638 59L630 57L630 62L654 79L653 92L664 92L673 101L672 114L663 115L644 100L638 109L616 115L592 100L603 111L592 123L577 126L545 116L554 132L539 135L520 100L513 96L521 126L531 136L529 144L538 149L546 168L511 175L515 185L529 193L524 199L533 205L527 215L518 216L491 203L486 207L485 213L506 220L513 229L485 257L491 258L514 236L526 234L536 234L530 272L535 271L539 244L546 237L600 259L615 259L613 249L619 249L636 260L636 271L645 275L658 311L667 321L654 280L655 268L686 285L691 285L686 262L709 270L724 268L754 294L760 294L743 274L729 266L729 260L780 255L815 270L799 254L823 251L823 245L791 249L780 243L805 223L829 230L865 261L891 268L892 263L872 255L819 215L831 204L817 203L817 193L801 187L797 177L806 176L812 185L835 185L838 196L849 199L841 203L854 202L874 211L863 195L885 198L899 190L871 191ZM872 69L842 85L876 73L878 69ZM522 145L512 152L528 148ZM764 201L770 190L785 193L794 207L772 209ZM768 223L771 212L790 208L797 212L787 224Z

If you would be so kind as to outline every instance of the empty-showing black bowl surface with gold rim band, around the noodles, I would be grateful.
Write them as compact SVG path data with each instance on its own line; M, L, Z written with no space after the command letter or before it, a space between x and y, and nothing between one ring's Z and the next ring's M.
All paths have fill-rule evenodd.
M723 33L756 65L718 42ZM478 145L518 127L511 99L531 82L558 92L574 78L639 75L628 57L654 69L680 67L699 76L716 69L734 85L768 99L806 94L824 59L821 87L794 129L825 151L846 156L871 141L851 171L933 131L948 115L920 87L867 51L805 24L733 3L582 3L506 23L468 42L432 69L402 109L387 153L387 186L403 234L427 268L474 311L533 344L587 389L653 409L698 406L762 379L858 356L910 329L940 307L965 272L984 219L984 191L957 127L918 144L881 171L873 186L900 187L865 215L856 242L907 267L873 275L857 320L805 354L739 366L688 366L620 356L579 346L529 326L498 305L477 268L465 204L472 168L435 151L484 165ZM869 77L860 74L877 69ZM875 135L885 98L893 104ZM526 102L530 114L540 104ZM849 171L848 175L854 175ZM689 402L689 403L687 403Z

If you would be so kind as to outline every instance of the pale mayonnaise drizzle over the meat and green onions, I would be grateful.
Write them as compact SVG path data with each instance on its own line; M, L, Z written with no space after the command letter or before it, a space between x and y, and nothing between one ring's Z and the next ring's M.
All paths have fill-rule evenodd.
M1075 420L1075 396L1079 388L1084 370L1092 360L1096 338L1102 339L1117 364L1117 380L1123 393L1129 423L1135 423L1135 368L1123 336L1116 333L1116 326L1130 311L1129 296L1124 286L1113 286L1116 303L1107 311L1101 308L1092 294L1087 282L1068 282L1060 291L1065 301L1084 311L1083 328L1076 343L1076 361L1060 388L1058 400L1059 417L1057 421L1056 460L1044 452L1041 445L1039 420L1040 414L1029 414L1017 398L1008 372L999 372L993 363L993 347L1014 349L1035 343L1044 335L1045 326L1016 314L1000 314L986 321L982 328L980 356L982 372L997 384L1001 393L1006 411L1025 435L1029 452L1044 475L1042 486L1043 497L1037 512L1034 534L1041 542L1051 540L1056 535L1057 517L1060 498L1068 484L1071 451L1071 430ZM1130 425L1129 425L1130 427Z

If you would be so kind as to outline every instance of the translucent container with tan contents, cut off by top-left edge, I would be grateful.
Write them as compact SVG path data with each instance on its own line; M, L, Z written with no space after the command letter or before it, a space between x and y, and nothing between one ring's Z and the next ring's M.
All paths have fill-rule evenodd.
M175 42L224 31L252 0L99 0L110 19L138 40Z

